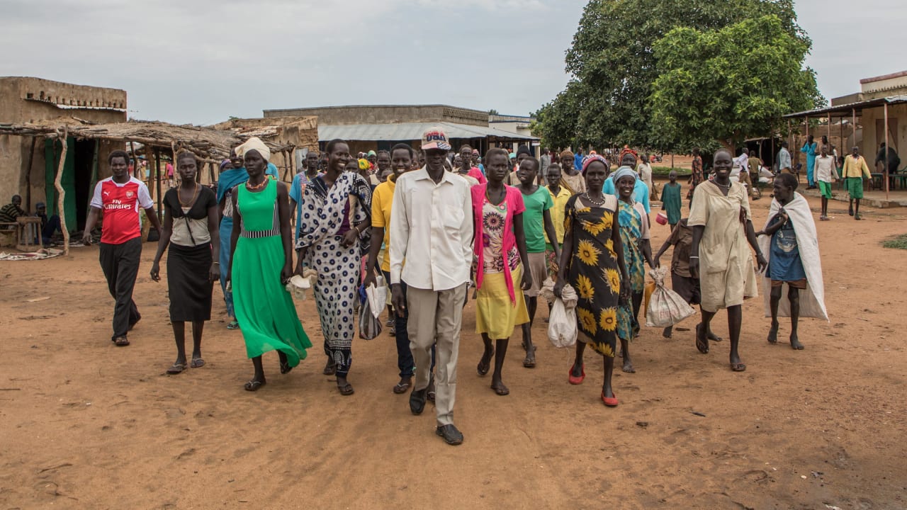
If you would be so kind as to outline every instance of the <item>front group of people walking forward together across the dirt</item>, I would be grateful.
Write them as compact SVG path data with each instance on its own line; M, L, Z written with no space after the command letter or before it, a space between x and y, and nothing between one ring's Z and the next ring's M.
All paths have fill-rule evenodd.
M561 164L548 162L542 177L538 160L526 154L514 168L502 149L485 154L483 169L473 167L468 145L460 148L461 166L453 168L448 161L452 149L444 131L432 128L422 137L424 166L414 168L416 152L397 144L382 154L387 172L373 188L359 172L348 144L334 140L327 143L327 163L320 167L324 172L319 172L315 155L288 188L268 177L267 145L250 138L221 164L216 193L197 181L196 157L180 152L175 158L180 184L164 196L162 224L145 185L128 175L128 155L112 152L113 175L98 183L85 230L91 231L103 211L100 257L116 299L112 340L128 345L128 331L141 318L132 302L132 285L141 254L139 211L145 209L161 230L152 280L161 280L161 257L169 250L167 281L177 345L171 374L205 363L201 336L217 280L227 304L228 327L241 330L253 363L245 389L256 391L267 384L262 355L268 351L278 352L280 372L287 374L307 357L312 344L285 286L292 276L314 271L327 357L324 373L336 376L341 395L352 395L356 304L360 290L375 284L380 274L390 286L393 303L399 369L394 392L410 391L415 415L433 399L437 434L457 445L463 435L453 425L453 405L467 290L474 285L476 332L484 344L476 371L482 377L491 372L491 388L505 396L510 389L503 382L504 358L516 326L522 332L522 364L536 366L532 321L543 282L551 277L554 295L561 297L570 285L579 297L580 341L569 382L579 385L585 378L583 354L589 345L604 359L601 400L617 406L611 384L614 359L620 353L622 369L634 371L629 344L639 335L645 265L658 267L658 258L670 245L675 246L672 272L678 277L673 285L702 309L697 348L707 353L709 340L719 339L710 323L719 309L727 309L730 367L746 369L738 353L741 305L746 297L756 296L757 280L749 250L756 251L759 270L768 261L756 242L746 191L729 179L730 152L716 153L715 172L698 183L689 218L669 215L671 238L653 257L649 186L635 171L635 152L621 152L614 172L608 160L595 153L576 168L574 155L561 152ZM519 185L505 183L514 176ZM543 180L547 186L541 185ZM820 291L812 295L820 303L822 299L821 269L805 270L800 262L801 255L810 263L817 256L815 246L805 247L802 240L802 235L814 240L814 226L810 233L801 224L805 219L797 209L795 182L779 190L782 184L789 183L776 181L781 205L765 229L772 240L783 238L770 245L774 336L769 341L776 341L779 305L782 314L789 310L796 317L798 292L807 283L815 289L815 278ZM678 204L679 185L666 187L663 198ZM786 300L775 282L788 283ZM192 324L190 358L185 352L186 322ZM665 336L670 336L669 329ZM802 348L796 329L791 344Z

